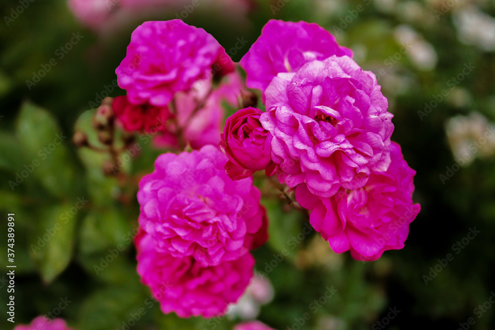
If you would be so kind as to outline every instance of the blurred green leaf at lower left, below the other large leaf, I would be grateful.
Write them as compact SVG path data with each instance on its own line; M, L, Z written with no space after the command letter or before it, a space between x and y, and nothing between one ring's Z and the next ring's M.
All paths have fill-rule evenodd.
M71 260L78 212L76 206L63 204L47 207L40 214L30 252L47 283L62 273Z

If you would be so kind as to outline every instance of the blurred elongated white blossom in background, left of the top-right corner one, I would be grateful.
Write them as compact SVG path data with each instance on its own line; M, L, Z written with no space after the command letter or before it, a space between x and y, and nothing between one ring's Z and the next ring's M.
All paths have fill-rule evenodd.
M428 71L437 65L437 52L433 46L414 31L410 25L399 25L394 31L397 43L409 46L407 55L412 64L422 71Z

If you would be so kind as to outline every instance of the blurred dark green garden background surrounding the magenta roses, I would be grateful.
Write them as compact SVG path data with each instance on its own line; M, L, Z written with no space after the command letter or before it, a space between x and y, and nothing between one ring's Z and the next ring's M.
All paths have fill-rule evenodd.
M279 330L495 329L495 1L2 0L0 12L0 232L15 213L16 324L47 315L78 330L227 330L254 318ZM235 61L269 19L316 22L354 51L417 171L421 212L404 249L367 263L335 254L301 234L299 213L266 200L270 239L253 252L258 276L241 302L211 320L161 313L135 271L135 188L103 176L101 159L71 139L91 125L87 110L124 94L114 72L131 32L179 17ZM152 170L160 151L149 144L129 171ZM3 269L0 328L10 330Z

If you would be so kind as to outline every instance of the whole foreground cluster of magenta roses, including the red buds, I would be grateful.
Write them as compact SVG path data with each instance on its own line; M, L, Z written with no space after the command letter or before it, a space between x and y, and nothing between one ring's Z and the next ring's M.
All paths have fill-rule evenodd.
M155 145L196 149L160 155L137 194L138 273L164 313L217 316L245 291L250 250L267 240L256 171L295 191L335 252L376 260L404 246L420 209L415 171L391 141L375 75L351 57L316 24L269 21L240 63L266 111L244 102L220 134L221 103L246 93L224 48L180 20L134 31L116 70L118 122L143 133L160 123Z

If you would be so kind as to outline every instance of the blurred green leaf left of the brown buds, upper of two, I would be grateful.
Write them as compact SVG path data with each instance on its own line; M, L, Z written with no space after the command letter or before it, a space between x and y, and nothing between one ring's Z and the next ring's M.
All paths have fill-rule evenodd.
M33 176L54 196L67 197L74 190L74 167L65 144L69 141L67 134L46 110L30 102L22 105L16 133L26 159L19 171L29 172L25 180Z

